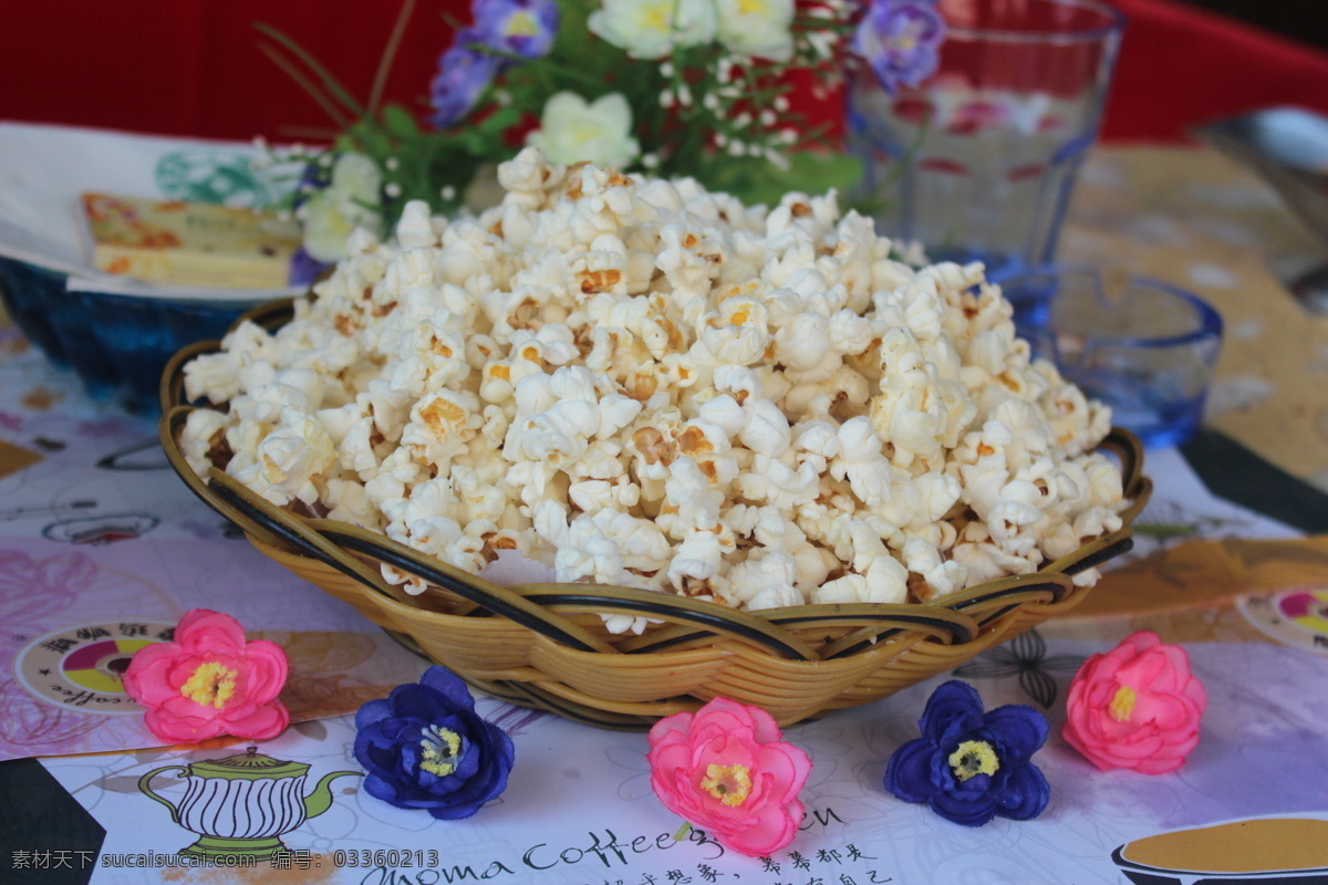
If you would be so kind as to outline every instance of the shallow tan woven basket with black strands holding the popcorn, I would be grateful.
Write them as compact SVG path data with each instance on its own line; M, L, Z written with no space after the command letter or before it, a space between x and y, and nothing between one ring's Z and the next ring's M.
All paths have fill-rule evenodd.
M290 301L247 318L275 329ZM278 508L222 471L201 479L178 435L183 366L218 349L181 350L162 377L161 441L175 472L202 500L242 528L264 555L349 602L409 647L470 685L513 703L615 728L649 727L722 695L791 724L884 698L1074 608L1089 588L1070 577L1130 549L1130 523L1151 482L1139 441L1113 430L1130 500L1123 527L1032 575L1008 577L922 605L806 605L737 612L667 593L588 584L498 586L382 535ZM430 584L409 596L380 564ZM641 636L611 634L600 613L660 621Z

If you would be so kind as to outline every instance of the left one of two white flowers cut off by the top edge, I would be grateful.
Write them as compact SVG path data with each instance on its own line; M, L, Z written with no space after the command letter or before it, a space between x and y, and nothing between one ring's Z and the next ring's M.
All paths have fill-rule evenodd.
M632 58L663 58L673 46L714 40L713 0L604 0L590 31ZM559 161L554 161L559 162Z

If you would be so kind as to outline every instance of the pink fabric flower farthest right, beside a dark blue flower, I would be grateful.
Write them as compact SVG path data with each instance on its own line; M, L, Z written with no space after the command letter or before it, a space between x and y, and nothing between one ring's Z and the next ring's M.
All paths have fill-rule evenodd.
M1199 743L1207 705L1185 649L1141 630L1074 674L1062 734L1102 771L1161 775L1185 764Z

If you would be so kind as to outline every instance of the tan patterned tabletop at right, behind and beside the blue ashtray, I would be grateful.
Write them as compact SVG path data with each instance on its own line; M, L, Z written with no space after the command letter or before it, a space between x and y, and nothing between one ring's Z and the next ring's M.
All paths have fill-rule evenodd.
M1268 184L1204 147L1100 147L1060 253L1210 301L1226 338L1206 425L1328 490L1328 317L1284 281L1328 263L1328 244Z

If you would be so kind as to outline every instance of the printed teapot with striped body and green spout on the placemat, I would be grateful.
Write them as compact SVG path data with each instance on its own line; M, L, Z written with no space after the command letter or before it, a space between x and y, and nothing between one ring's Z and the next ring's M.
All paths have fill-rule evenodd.
M165 771L182 771L187 784L179 804L155 793L149 784ZM183 849L191 857L234 857L264 860L286 851L282 835L317 817L332 807L331 783L359 771L324 775L304 795L309 767L283 762L250 747L223 759L206 759L187 766L162 766L138 779L138 789L170 808L171 820L198 833L198 841Z

